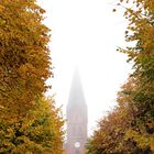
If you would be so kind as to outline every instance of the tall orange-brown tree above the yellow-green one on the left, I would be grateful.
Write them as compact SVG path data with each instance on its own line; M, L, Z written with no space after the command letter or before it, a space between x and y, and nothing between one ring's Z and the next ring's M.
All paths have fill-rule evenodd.
M50 30L35 0L0 0L0 118L25 116L51 76Z

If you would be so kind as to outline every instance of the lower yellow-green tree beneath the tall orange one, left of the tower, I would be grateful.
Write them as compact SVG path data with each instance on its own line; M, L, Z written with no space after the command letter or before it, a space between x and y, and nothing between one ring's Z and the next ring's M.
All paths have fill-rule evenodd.
M62 154L63 124L53 99L42 98L20 121L0 120L0 153Z

